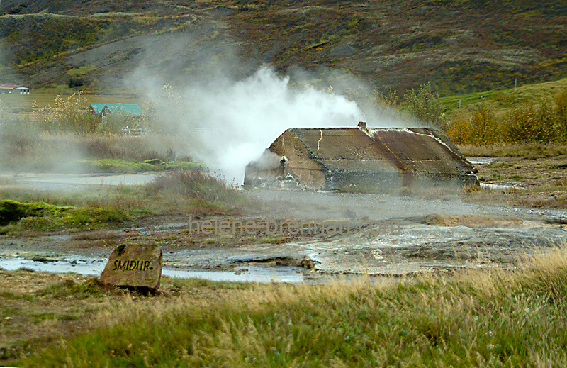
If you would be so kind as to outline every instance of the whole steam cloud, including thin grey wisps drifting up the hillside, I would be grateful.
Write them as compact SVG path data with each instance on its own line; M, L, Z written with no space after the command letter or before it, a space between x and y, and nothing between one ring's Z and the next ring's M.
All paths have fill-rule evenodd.
M123 45L135 50L138 64L120 82L126 89L147 91L158 130L181 141L174 147L177 153L191 155L236 183L242 183L247 163L288 128L354 127L366 119L370 126L401 126L375 111L376 106L357 106L342 96L362 83L341 72L327 70L332 82L322 85L332 84L335 91L328 93L304 87L320 75L298 68L291 71L293 77L282 77L272 67L242 60L227 35L211 40L196 27L147 42L133 38ZM162 89L166 83L171 90Z

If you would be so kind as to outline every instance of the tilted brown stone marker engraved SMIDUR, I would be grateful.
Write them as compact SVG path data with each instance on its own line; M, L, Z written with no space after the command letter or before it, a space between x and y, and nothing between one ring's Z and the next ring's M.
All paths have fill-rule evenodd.
M155 293L162 277L162 247L155 244L118 245L101 274L103 284L146 289Z

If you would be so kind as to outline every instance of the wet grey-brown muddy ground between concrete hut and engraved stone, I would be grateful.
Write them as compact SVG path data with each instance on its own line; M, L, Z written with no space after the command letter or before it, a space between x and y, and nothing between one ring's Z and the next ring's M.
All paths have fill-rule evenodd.
M515 267L522 255L567 242L563 210L386 194L266 189L244 194L266 203L269 213L158 216L107 230L2 236L0 255L63 267L77 260L104 260L119 244L157 242L168 269L238 276L254 266L295 266L316 278Z

